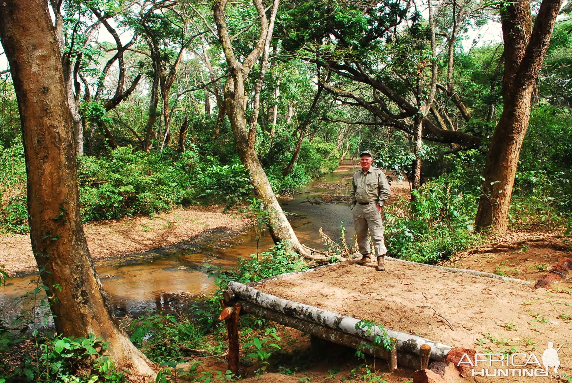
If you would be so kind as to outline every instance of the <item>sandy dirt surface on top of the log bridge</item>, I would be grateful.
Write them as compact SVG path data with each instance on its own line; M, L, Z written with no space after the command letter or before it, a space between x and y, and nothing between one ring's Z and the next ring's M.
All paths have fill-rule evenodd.
M479 352L542 355L549 341L559 346L572 334L570 294L425 266L388 262L388 271L379 273L372 267L342 263L257 288ZM454 330L435 311L447 318ZM572 345L568 343L560 353L561 371L572 375Z

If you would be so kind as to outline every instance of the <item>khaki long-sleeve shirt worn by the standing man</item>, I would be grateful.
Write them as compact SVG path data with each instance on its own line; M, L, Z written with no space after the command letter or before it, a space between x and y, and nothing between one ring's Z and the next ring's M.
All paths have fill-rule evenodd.
M390 194L390 184L382 169L371 167L367 173L359 170L353 174L350 194L352 205L376 201L379 206L383 206Z

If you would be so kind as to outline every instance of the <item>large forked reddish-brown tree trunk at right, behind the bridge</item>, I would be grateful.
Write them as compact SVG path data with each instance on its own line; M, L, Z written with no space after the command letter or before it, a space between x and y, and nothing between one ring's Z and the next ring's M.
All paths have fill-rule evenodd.
M502 233L507 228L518 157L529 123L533 86L548 49L562 0L544 0L534 22L529 0L501 11L505 42L503 112L496 125L484 168L483 193L475 225Z

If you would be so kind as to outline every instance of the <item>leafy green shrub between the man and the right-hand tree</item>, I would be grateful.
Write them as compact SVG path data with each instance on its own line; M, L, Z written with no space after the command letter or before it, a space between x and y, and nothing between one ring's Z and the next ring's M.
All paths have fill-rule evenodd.
M483 236L474 232L479 187L467 177L470 153L456 156L455 170L428 181L386 210L386 239L390 255L415 262L436 263L456 251L474 246ZM469 174L472 174L469 172Z

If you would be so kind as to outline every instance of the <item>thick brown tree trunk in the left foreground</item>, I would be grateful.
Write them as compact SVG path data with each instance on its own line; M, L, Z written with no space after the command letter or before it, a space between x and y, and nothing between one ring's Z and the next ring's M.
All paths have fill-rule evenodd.
M109 342L134 376L153 379L148 359L118 326L93 267L80 220L73 121L47 3L0 3L0 38L22 124L32 250L59 334Z

